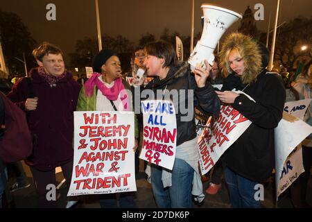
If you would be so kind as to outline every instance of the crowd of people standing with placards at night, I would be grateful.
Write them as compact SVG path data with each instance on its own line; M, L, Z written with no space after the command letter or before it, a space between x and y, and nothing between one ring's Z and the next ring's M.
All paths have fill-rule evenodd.
M136 87L150 89L155 96L157 90L180 92L192 89L193 94L183 102L188 104L188 100L192 100L193 108L206 117L217 119L220 105L227 104L248 118L250 126L215 164L206 193L216 194L224 177L232 207L261 207L260 201L254 198L254 186L266 182L275 168L274 129L282 118L284 103L311 99L311 62L306 64L294 84L290 84L287 77L284 83L278 74L266 69L268 49L241 33L232 33L225 38L212 66L205 60L205 68L196 67L193 72L187 62L177 60L173 46L162 40L136 49L132 69L126 74L121 70L119 56L111 49L103 49L94 55L94 72L90 78L81 81L83 84L65 69L63 52L57 46L44 42L33 50L33 56L38 67L31 69L30 78L20 78L12 85L7 76L0 76L0 89L6 94L1 100L14 103L21 113L21 121L28 125L24 127L24 134L29 136L19 137L19 144L9 146L23 147L22 143L24 148L32 146L31 153L26 152L9 162L0 152L0 160L5 163L1 164L0 196L6 190L8 177L16 178L11 192L30 186L21 162L24 160L33 175L38 207L58 206L56 200L46 199L46 186L55 184L55 167L62 168L69 188L74 153L73 111L133 111L134 101L138 99L133 96ZM133 80L129 82L127 78ZM239 94L233 89L244 93ZM180 107L179 103L173 105ZM312 126L311 105L304 121ZM193 197L198 202L205 198L196 148L195 117L193 115L191 121L182 121L183 117L180 110L175 113L177 140L173 169L170 171L152 163L146 170L157 207L192 207ZM142 118L141 114L135 114L135 146L132 149L136 153L133 166L136 173L139 172L143 137ZM2 143L11 126L4 116L0 120ZM307 205L311 146L310 135L302 142L305 172L291 186L295 207ZM10 171L12 173L8 173ZM77 201L79 198L68 198L68 207ZM100 205L136 207L135 192L121 192L118 198L116 194L101 194Z

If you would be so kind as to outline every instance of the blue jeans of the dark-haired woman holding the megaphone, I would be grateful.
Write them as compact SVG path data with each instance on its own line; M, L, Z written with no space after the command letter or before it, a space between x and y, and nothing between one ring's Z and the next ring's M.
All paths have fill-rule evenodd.
M172 186L164 188L162 167L152 164L151 180L157 207L193 207L191 201L193 176L194 170L187 162L175 159L172 170Z

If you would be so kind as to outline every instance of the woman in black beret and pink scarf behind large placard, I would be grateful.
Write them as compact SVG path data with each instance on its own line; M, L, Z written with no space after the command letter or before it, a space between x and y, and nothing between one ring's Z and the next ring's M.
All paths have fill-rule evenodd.
M130 86L121 77L121 62L116 53L103 49L93 61L94 73L80 90L77 111L132 111ZM137 148L137 118L135 117L135 147ZM133 166L135 167L135 166ZM101 207L117 207L116 194L103 194ZM121 193L120 207L135 207L132 192Z

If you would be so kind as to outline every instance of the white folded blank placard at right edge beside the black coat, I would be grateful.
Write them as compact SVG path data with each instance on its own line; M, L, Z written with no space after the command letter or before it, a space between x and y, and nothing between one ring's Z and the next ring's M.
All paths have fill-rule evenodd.
M284 165L288 155L293 149L312 133L312 127L301 119L293 117L287 112L283 112L283 119L274 130L275 134L275 184L277 199L279 194L285 189L279 189L279 178L284 171ZM298 175L299 176L299 175Z

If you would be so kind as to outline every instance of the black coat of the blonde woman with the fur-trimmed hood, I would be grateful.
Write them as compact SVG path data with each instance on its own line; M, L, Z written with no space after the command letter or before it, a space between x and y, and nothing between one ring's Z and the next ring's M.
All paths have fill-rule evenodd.
M286 93L277 76L261 71L255 83L243 85L240 78L229 75L223 90L245 87L243 92L256 101L241 94L236 97L233 108L252 124L223 154L222 161L229 169L241 176L261 182L266 180L275 167L274 128L282 118Z

